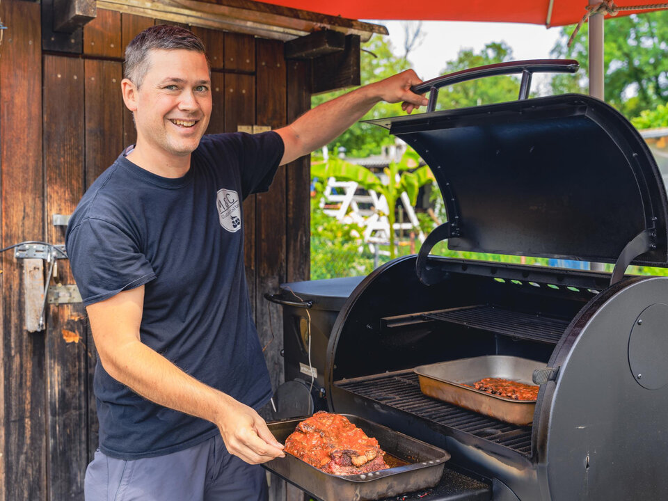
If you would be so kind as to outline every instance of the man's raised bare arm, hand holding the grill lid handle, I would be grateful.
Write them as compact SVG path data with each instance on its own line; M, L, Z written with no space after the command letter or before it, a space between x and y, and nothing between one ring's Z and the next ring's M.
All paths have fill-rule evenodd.
M401 109L408 113L426 106L427 99L410 90L411 86L421 83L413 70L406 70L304 113L292 124L276 130L285 144L280 164L287 164L333 141L381 101L403 102Z

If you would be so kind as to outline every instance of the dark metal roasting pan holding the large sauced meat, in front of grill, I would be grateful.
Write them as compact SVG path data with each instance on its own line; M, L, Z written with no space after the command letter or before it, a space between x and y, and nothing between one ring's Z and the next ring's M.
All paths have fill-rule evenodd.
M438 484L450 454L362 417L342 415L365 434L376 438L386 453L409 464L361 475L341 476L325 473L292 454L285 454L284 458L273 459L262 466L324 501L376 500ZM303 419L269 422L267 426L276 440L284 443Z

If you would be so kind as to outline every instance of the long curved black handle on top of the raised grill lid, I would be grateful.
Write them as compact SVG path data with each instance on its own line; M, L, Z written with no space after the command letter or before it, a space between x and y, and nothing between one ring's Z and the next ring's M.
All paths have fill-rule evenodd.
M427 113L429 113L436 109L438 89L441 87L479 78L521 73L522 81L520 83L520 95L518 96L518 100L525 100L529 97L532 74L541 72L575 73L579 68L580 64L574 59L530 59L527 61L507 61L506 63L468 68L468 70L461 70L459 72L436 77L411 87L411 92L415 94L424 94L429 91L429 104L427 104Z

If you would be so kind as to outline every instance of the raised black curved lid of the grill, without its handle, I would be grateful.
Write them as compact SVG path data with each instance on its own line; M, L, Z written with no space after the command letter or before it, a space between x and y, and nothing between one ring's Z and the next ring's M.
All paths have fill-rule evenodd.
M436 177L448 223L427 253L447 238L453 250L619 260L622 274L630 263L668 266L662 177L638 132L599 100L558 95L370 122L415 148Z

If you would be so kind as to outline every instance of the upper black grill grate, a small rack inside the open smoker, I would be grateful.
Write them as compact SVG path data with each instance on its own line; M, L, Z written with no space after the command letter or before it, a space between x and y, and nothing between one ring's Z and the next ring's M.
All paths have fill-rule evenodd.
M568 320L478 305L424 313L424 318L450 322L527 340L557 344Z

